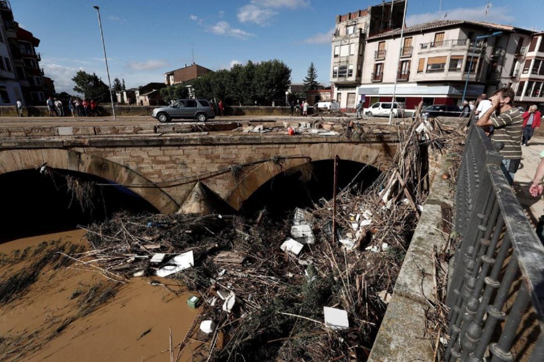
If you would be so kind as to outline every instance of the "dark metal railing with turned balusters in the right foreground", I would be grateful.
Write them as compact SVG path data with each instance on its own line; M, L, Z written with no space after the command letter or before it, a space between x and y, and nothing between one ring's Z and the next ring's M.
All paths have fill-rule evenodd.
M521 324L534 332L534 343L526 341L533 347L529 361L544 361L544 246L505 171L502 156L472 124L455 193L455 230L462 241L446 297L450 340L445 361L512 361ZM529 305L536 315L532 326Z

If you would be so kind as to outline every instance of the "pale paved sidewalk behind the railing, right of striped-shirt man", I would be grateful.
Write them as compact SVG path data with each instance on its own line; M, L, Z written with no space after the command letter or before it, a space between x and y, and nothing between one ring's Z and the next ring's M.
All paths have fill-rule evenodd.
M540 153L544 150L544 136L535 135L529 141L527 147L522 146L523 156L520 168L514 177L514 190L520 205L523 207L529 222L533 227L540 215L544 213L544 199L542 196L534 198L529 194L529 186L533 181L533 176L536 172L536 167L540 163Z

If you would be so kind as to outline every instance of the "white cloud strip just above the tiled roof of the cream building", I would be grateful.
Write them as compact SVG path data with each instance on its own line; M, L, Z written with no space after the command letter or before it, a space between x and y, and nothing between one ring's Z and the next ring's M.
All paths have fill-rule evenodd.
M455 8L444 10L442 14L436 12L425 12L423 14L413 14L406 17L406 25L412 26L420 23L426 23L434 20L443 20L444 13L447 14L448 20L475 20L484 21L485 7L475 8ZM516 20L514 14L509 7L494 7L487 13L486 22L498 24L511 24Z

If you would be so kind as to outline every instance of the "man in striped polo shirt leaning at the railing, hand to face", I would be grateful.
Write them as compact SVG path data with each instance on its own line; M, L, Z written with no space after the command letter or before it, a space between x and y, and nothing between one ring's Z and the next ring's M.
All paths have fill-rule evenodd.
M489 100L491 108L481 115L476 125L483 128L493 126L491 141L504 143L499 152L503 155L504 174L512 185L521 162L523 116L514 107L514 91L510 87L500 88Z

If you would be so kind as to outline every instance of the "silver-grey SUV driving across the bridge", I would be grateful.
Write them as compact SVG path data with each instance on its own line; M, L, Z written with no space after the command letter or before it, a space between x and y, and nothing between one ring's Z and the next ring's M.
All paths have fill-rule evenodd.
M199 122L215 118L213 107L206 99L179 99L169 106L156 108L151 117L160 123L169 122L174 118L193 118Z

